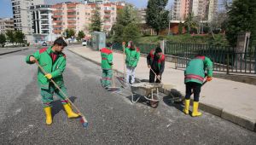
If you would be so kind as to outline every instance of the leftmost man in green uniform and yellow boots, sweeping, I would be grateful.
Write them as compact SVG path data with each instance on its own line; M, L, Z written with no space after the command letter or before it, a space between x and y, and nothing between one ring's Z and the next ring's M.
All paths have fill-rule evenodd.
M38 68L38 85L41 90L44 112L46 114L46 125L52 124L51 103L53 102L54 93L61 99L68 118L79 117L79 114L73 113L71 104L67 101L67 98L50 82L50 79L54 80L67 95L67 88L65 87L62 76L66 67L66 55L62 53L62 50L66 46L67 44L62 38L57 38L53 46L39 49L34 54L26 56L26 63L33 64L38 61L38 64L47 72L44 75Z

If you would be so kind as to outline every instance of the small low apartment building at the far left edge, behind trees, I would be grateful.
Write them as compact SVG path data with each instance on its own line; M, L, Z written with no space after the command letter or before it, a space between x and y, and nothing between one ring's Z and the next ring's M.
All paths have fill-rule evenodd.
M0 19L0 33L5 34L7 31L14 31L14 19L12 18L4 18Z

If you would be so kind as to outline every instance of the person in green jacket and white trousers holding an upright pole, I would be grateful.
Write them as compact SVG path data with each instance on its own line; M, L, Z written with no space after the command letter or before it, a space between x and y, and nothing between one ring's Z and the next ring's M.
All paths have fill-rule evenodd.
M138 49L132 41L130 41L130 47L125 48L125 64L126 64L126 82L134 84L135 82L135 68L137 62L140 59L140 49ZM131 82L130 82L131 77Z

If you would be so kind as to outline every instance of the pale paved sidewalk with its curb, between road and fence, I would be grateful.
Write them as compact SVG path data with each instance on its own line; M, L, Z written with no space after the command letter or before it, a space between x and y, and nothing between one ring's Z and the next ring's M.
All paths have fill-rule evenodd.
M67 48L77 55L81 55L87 60L101 63L99 51L86 47ZM114 69L123 73L124 60L123 54L113 52ZM178 90L185 94L185 85L183 84L183 71L174 69L175 64L166 62L165 72L162 76L164 84L172 84L172 90ZM137 65L136 78L148 79L149 70L147 59L141 57ZM165 90L165 94L170 93ZM193 98L193 97L192 97ZM200 108L208 113L212 113L221 118L230 120L233 123L241 125L251 131L256 131L256 86L244 84L221 78L214 78L211 82L205 84L201 90Z

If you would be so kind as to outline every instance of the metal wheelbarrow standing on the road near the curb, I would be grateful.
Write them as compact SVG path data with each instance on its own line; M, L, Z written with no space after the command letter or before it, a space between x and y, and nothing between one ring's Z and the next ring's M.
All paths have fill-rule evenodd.
M159 100L159 88L162 87L160 83L148 83L141 82L137 84L131 84L131 102L136 103L141 97L144 97L151 107L158 107ZM137 100L134 100L134 95L138 95Z

